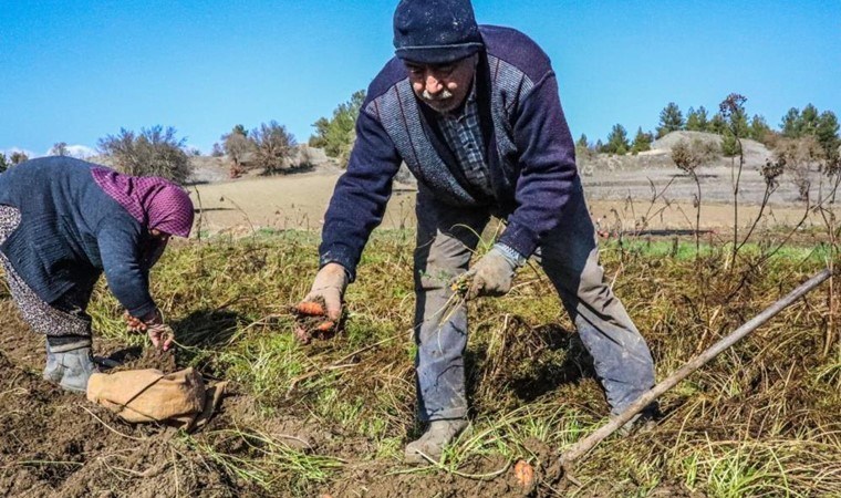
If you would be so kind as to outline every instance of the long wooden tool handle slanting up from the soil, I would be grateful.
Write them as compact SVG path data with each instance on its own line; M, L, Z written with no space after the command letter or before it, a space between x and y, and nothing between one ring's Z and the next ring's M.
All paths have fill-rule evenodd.
M788 295L775 302L770 307L766 308L761 313L757 314L751 320L746 322L744 325L736 329L729 335L727 335L726 338L713 344L708 350L704 351L703 353L698 354L694 359L686 362L686 364L684 364L677 372L673 373L663 382L655 385L650 391L644 393L642 396L636 398L636 401L632 403L631 406L625 408L624 412L619 414L611 422L609 422L608 424L604 424L593 434L589 435L588 437L572 445L563 455L561 455L561 465L563 466L564 471L569 473L570 471L569 466L573 460L575 460L577 458L585 455L588 452L593 449L593 447L598 445L599 443L601 443L602 439L613 434L617 428L622 427L625 423L627 423L627 421L633 418L634 415L642 412L643 408L648 406L651 402L658 398L661 395L663 395L663 393L665 393L666 391L677 385L678 382L683 381L691 373L695 372L696 370L702 367L704 364L706 364L708 361L713 360L720 352L734 345L741 338L749 334L750 332L754 332L756 329L759 328L759 325L764 324L765 322L770 320L773 315L776 315L783 309L788 308L791 303L793 303L795 301L797 301L798 299L800 299L808 292L812 291L816 287L820 286L824 280L827 280L831 274L832 272L828 269L816 274L814 277L812 277L811 279L802 283L800 287L791 291Z

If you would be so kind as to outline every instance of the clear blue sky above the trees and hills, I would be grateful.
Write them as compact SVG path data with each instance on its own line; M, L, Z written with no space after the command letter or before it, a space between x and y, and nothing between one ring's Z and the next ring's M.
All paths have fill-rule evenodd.
M205 153L236 124L299 142L392 55L395 0L0 0L0 151L95 147L160 124ZM777 127L841 114L841 0L475 0L480 23L534 39L573 136L653 129L674 101L728 93Z

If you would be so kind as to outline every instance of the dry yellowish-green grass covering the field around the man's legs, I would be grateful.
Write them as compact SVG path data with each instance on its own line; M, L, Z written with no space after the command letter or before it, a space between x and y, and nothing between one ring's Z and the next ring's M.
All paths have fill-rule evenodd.
M465 490L477 479L513 479L521 459L539 481L559 450L606 419L591 359L548 279L527 267L509 295L469 304L471 427L439 466L403 467L402 447L419 434L414 237L376 234L346 294L344 332L303 345L293 338L289 307L309 289L316 243L312 234L282 232L184 245L153 272L154 294L181 345L179 363L235 381L253 403L248 417L231 414L235 428L193 446L220 463L231 481L312 496L354 483L375 489L384 479L445 475ZM668 241L602 250L616 293L652 346L658 378L822 268L826 256L792 247L764 260L757 245L734 261L726 247L702 247L699 257L694 249L686 241L674 251ZM819 288L667 393L665 418L654 430L608 439L581 461L582 488L540 484L536 492L838 494L841 351L835 345L821 354L828 304ZM105 334L142 340L123 335L121 311L106 293L92 312ZM294 436L309 437L305 448L279 443L289 427L264 429L279 419L294 421Z

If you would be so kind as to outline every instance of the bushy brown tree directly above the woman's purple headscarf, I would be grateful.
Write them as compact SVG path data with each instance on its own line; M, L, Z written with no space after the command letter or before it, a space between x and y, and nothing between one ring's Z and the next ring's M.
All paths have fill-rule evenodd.
M100 152L110 156L116 168L132 176L160 176L183 184L193 173L184 151L186 138L177 138L176 131L160 125L141 128L139 134L121 128L98 142Z

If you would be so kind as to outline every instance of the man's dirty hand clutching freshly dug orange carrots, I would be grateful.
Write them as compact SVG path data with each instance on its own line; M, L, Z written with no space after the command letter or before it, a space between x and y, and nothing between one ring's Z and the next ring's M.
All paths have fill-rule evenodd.
M335 332L346 287L347 273L341 264L328 263L319 270L310 293L293 309L298 339L308 343L313 336L326 339Z

